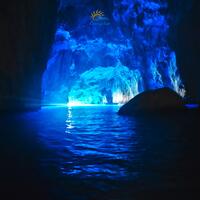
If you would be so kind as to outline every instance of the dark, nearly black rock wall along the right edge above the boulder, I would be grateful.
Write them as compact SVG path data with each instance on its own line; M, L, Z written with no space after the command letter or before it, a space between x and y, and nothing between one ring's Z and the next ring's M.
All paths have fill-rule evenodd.
M200 1L170 0L170 46L175 49L177 64L187 97L200 102Z

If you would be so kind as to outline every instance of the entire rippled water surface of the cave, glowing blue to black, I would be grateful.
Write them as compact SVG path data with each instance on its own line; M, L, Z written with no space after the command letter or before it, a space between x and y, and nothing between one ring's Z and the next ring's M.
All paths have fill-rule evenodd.
M24 174L26 182L35 180L32 171L38 169L36 184L53 200L132 200L151 194L175 199L170 195L198 190L198 116L129 118L117 110L46 107L6 115L0 147L9 159L1 172L20 183Z

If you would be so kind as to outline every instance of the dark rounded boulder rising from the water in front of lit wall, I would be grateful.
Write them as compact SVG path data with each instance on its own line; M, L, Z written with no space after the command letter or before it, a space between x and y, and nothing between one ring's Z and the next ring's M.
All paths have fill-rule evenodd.
M180 109L184 109L183 98L169 88L162 88L137 95L120 108L119 114L134 115Z

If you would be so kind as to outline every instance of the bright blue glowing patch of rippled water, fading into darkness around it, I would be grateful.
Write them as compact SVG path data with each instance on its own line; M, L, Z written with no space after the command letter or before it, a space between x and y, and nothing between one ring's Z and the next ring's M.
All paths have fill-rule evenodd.
M144 158L148 160L147 151L154 151L163 139L149 137L150 130L134 118L117 115L118 109L118 106L63 107L32 114L33 120L40 122L39 141L54 153L51 158L44 156L41 162L56 166L63 175L79 178L137 179ZM159 156L159 152L154 153ZM160 157L162 161L165 162ZM155 162L152 158L150 164Z

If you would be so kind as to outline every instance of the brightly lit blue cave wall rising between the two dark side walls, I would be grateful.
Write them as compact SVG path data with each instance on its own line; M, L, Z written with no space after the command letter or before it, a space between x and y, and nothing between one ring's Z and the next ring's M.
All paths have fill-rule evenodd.
M58 26L43 75L43 103L125 103L170 87L182 96L167 37L167 1L60 1ZM90 14L104 16L94 20Z

